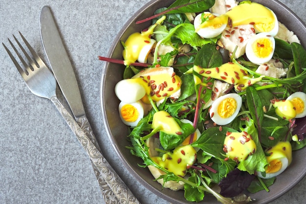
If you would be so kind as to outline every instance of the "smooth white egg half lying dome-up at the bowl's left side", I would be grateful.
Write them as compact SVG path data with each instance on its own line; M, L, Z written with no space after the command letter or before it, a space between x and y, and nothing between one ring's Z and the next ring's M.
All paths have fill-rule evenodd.
M145 88L131 79L123 79L115 86L115 94L120 101L133 103L146 95Z

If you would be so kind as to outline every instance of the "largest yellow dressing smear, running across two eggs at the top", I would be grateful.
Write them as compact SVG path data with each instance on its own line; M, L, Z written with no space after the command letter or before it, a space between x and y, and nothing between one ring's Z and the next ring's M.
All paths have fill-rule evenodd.
M275 17L270 9L262 4L251 2L239 4L225 14L202 23L197 29L213 27L214 24L227 24L229 18L230 27L251 23L259 32L269 32L275 25Z

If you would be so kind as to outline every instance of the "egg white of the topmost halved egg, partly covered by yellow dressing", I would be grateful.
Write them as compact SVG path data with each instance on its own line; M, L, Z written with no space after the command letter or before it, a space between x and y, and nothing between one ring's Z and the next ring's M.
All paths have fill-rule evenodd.
M210 12L204 12L204 14L210 14ZM219 14L214 14L214 13L212 13L212 15L219 16ZM195 21L194 21L195 29L197 29L197 27L202 23L201 16L202 14L200 13L195 18ZM218 28L204 27L204 28L199 29L197 31L197 34L203 38L215 38L223 32L225 27L226 27L226 24L222 24Z

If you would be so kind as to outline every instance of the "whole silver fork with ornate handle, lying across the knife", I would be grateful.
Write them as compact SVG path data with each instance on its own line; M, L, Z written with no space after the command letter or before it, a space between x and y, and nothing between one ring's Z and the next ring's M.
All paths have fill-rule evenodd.
M19 32L20 33L20 32ZM25 40L23 35L20 33L24 44L27 46L28 50L32 54L32 59L26 50L22 47L21 43L13 35L15 41L21 48L24 56L26 57L29 65L22 58L22 55L13 45L13 43L8 39L9 43L13 47L17 56L20 58L23 67L22 69L16 58L13 56L11 51L2 43L8 55L12 59L19 73L22 75L27 87L32 93L37 96L50 99L56 106L57 110L62 114L66 123L77 137L79 142L82 144L83 148L87 152L92 163L97 167L98 171L101 173L104 180L107 182L109 187L113 189L114 195L123 204L139 204L139 201L131 193L131 190L126 186L126 184L120 179L113 168L109 165L108 161L103 157L100 151L95 147L92 141L87 137L78 123L73 119L71 114L66 110L66 108L61 104L56 96L56 79L49 68L44 64L42 59L37 55L34 49Z

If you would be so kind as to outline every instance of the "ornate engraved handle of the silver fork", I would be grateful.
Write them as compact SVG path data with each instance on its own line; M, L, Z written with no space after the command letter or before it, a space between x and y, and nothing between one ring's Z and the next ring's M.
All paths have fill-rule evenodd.
M95 147L92 141L86 136L84 131L74 120L71 114L61 104L56 95L53 95L50 100L56 106L57 110L62 114L69 128L77 137L92 163L97 167L104 180L114 192L120 203L123 204L140 204L136 197L132 194L128 186L116 174L109 162L103 157L101 152Z

